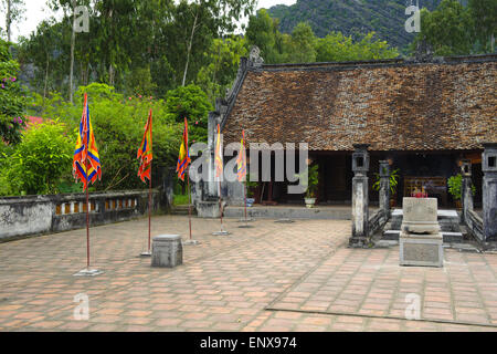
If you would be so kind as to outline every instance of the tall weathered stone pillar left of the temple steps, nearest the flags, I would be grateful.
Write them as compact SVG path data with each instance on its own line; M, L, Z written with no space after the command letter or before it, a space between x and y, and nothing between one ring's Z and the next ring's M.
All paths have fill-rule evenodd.
M368 242L369 220L369 144L355 144L352 154L352 237L350 247L364 247Z

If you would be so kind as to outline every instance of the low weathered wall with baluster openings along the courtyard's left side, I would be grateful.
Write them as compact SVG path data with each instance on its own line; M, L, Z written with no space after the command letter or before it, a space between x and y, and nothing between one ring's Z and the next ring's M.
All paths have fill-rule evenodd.
M152 210L163 208L152 190ZM89 194L91 226L138 218L148 211L148 190ZM0 240L86 227L86 195L0 198Z

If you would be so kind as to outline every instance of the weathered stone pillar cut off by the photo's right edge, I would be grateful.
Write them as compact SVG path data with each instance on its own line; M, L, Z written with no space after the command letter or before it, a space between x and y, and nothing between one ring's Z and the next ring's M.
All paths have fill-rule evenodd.
M497 239L497 143L483 144L483 221L485 241Z

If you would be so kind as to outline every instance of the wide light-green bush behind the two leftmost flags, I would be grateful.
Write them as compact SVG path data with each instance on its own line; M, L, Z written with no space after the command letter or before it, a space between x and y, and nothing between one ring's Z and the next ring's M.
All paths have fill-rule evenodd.
M44 118L66 123L75 139L84 93L88 94L89 114L102 163L102 181L94 185L96 190L148 187L137 177L139 162L136 156L150 108L154 112L154 175L159 176L166 167L176 166L183 123L177 122L177 114L168 108L163 100L125 96L112 86L94 83L77 90L75 105L57 93L46 98L44 104L41 96L33 94L30 110ZM178 105L182 104L179 100ZM189 104L194 105L194 102ZM190 123L192 125L194 123ZM203 134L207 136L207 133ZM61 186L61 190L71 191L71 185Z

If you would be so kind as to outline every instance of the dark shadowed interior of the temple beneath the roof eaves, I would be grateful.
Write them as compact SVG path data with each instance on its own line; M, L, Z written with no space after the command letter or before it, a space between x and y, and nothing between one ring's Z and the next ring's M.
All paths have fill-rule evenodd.
M369 198L372 206L378 205L378 191L372 185L379 171L379 162L385 159L390 170L398 170L399 185L391 198L391 206L400 207L402 198L411 196L416 188L424 187L429 197L438 199L441 208L456 208L459 205L448 191L448 178L459 173L459 162L463 158L472 160L473 184L476 192L474 204L482 206L482 152L370 152ZM304 204L304 195L287 192L289 185L275 181L274 158L272 155L272 181L260 181L254 189L255 202L264 205ZM296 157L296 166L298 166ZM319 185L316 194L317 205L350 205L352 195L352 163L350 152L310 152L309 162L319 165ZM262 163L260 159L260 170ZM260 180L262 175L260 173Z

